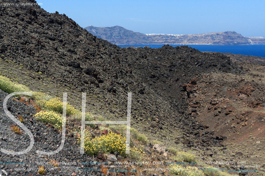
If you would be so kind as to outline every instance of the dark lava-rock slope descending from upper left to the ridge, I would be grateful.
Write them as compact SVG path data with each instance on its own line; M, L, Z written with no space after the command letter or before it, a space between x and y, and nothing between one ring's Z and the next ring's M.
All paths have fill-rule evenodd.
M201 126L198 130L202 132L202 124L190 118L182 103L184 83L201 73L240 71L222 54L189 47L119 48L92 36L67 16L49 14L38 6L1 6L0 30L3 59L42 72L53 84L67 87L70 94L77 93L77 98L81 92L88 92L108 99L96 105L114 113L117 119L125 118L127 92L133 92L132 117L136 123L132 125L157 136L177 126L188 134L192 124ZM43 89L50 94L54 91ZM80 106L75 99L72 102ZM110 110L114 105L120 108ZM183 119L185 122L179 124ZM151 124L165 130L147 130Z

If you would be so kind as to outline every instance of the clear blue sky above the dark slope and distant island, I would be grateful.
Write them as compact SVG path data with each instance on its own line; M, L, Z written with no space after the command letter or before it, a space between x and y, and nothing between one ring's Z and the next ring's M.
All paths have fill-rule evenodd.
M122 26L140 33L198 34L236 31L265 37L265 1L37 0L81 27Z

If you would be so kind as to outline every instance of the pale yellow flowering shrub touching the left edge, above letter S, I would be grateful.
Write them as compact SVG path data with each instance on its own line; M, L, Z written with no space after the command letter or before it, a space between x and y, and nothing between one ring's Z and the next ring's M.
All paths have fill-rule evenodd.
M14 84L9 78L0 75L0 89L9 94L13 92L28 92L30 89L22 84Z

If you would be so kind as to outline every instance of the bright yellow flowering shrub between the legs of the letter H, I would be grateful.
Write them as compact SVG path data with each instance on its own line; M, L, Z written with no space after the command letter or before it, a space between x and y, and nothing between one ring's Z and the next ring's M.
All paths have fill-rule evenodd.
M80 142L80 137L77 139ZM97 155L99 151L103 153L114 153L117 151L121 156L125 156L126 138L116 133L109 133L92 139L85 136L84 149L90 156Z

